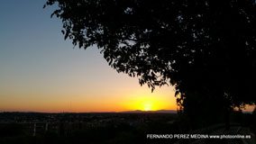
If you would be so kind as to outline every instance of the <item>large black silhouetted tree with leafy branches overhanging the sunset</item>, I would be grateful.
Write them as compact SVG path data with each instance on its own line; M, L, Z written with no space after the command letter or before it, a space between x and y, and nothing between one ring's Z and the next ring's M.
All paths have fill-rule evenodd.
M255 103L256 4L252 0L48 0L63 34L96 45L141 85L174 85L191 119ZM195 119L197 120L197 119Z

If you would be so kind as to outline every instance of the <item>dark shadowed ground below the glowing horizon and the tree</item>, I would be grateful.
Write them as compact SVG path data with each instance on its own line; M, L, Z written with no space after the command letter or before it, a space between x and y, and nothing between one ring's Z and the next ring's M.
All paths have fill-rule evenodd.
M255 115L234 113L231 118L230 130L222 123L192 130L176 113L1 112L0 144L254 143ZM251 138L206 138L221 134Z

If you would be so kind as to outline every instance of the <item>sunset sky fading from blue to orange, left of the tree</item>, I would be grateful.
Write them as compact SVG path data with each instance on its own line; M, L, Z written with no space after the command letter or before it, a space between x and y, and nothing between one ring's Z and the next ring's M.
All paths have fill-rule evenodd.
M45 0L0 1L0 112L176 110L173 87L151 93L96 48L74 48Z

